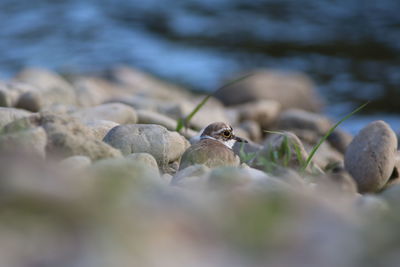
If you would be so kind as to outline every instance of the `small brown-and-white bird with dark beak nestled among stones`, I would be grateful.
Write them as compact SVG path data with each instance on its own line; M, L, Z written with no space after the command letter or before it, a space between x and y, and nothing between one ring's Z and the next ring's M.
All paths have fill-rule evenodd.
M208 125L200 135L200 141L190 146L182 155L179 169L193 164L204 164L209 168L238 166L240 159L232 150L236 142L246 140L235 136L230 125L215 122Z

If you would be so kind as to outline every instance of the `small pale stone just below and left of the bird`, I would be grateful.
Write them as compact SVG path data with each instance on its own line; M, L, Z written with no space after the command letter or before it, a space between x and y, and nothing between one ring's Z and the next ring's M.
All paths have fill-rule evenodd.
M181 187L204 186L204 175L210 172L210 168L203 164L191 165L178 171L171 180L171 185Z

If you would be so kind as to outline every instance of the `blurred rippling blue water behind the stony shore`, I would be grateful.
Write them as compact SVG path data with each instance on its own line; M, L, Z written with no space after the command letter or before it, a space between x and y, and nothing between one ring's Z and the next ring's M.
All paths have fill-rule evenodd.
M192 90L268 67L310 75L334 119L367 100L400 130L398 0L1 0L0 78L128 64Z

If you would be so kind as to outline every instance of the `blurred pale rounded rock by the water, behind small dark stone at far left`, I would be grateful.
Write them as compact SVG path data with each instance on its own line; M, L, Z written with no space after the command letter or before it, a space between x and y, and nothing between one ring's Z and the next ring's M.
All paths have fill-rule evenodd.
M76 104L73 87L60 75L40 68L27 68L18 73L15 80L30 84L37 88L38 99L44 106L52 104Z

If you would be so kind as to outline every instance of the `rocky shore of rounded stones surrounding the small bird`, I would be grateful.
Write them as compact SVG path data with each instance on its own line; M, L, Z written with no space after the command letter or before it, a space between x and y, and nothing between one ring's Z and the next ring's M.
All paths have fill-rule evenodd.
M129 67L1 81L0 265L396 266L390 125L339 127L305 165L334 125L307 76L257 70L176 132L203 98ZM240 163L179 169L217 121Z

